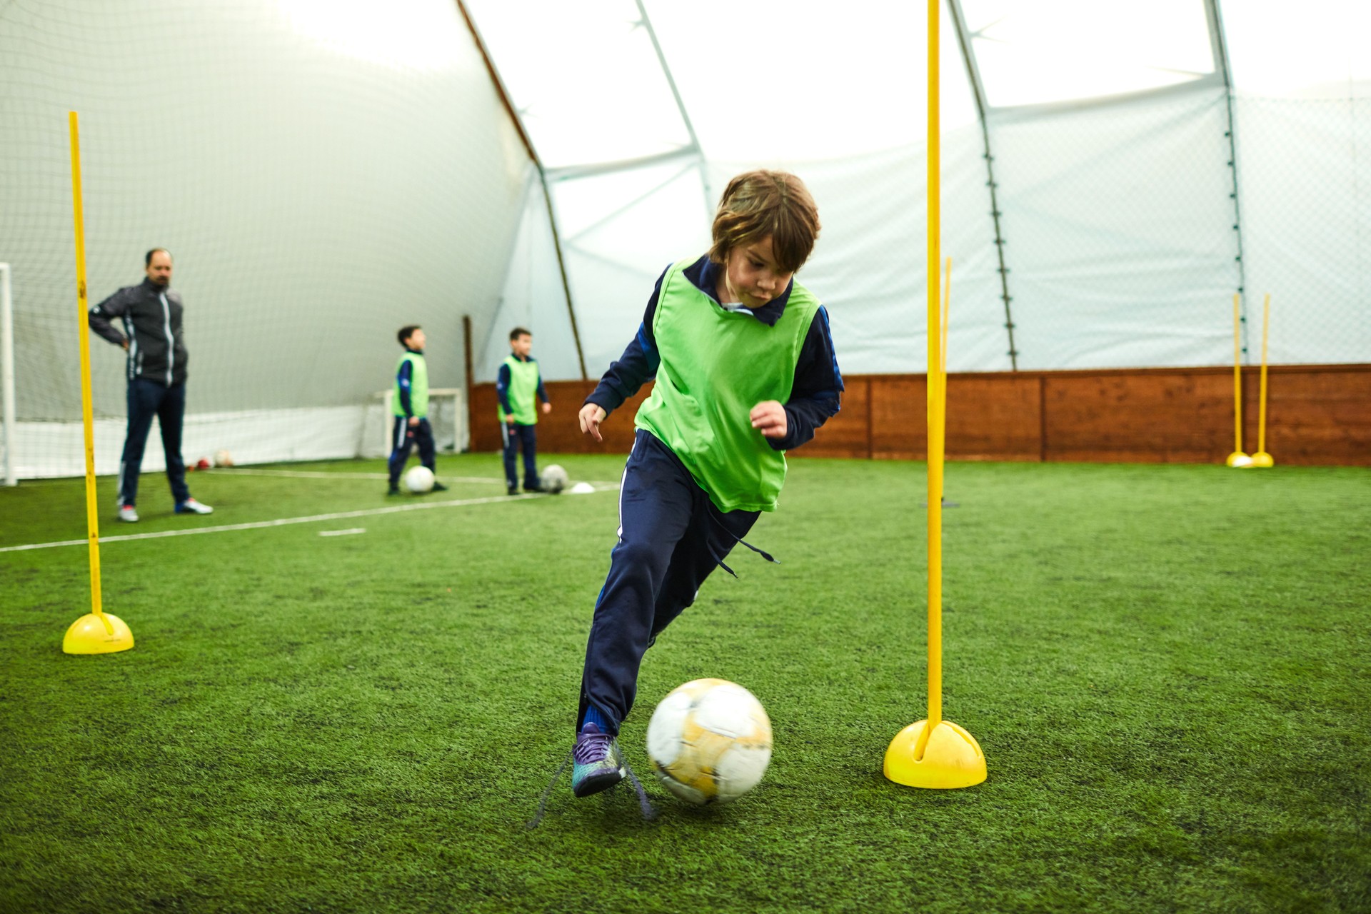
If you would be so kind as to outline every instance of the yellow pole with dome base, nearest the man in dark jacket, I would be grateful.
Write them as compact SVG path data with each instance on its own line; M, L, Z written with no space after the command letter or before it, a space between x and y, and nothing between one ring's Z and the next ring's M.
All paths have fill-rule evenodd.
M71 134L71 208L77 237L77 338L81 340L81 419L86 445L86 536L90 544L90 613L71 623L62 639L67 654L114 654L133 647L133 632L100 603L100 523L96 518L95 493L95 419L90 407L90 330L85 284L85 217L81 211L81 144L77 138L77 112L67 112Z

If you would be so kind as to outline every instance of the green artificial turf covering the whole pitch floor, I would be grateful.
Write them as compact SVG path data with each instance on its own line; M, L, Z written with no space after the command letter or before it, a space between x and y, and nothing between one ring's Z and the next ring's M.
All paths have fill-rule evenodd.
M145 521L104 533L395 504L348 475L192 484L213 517L148 477ZM137 647L93 658L59 651L85 551L0 552L0 910L1371 909L1371 471L950 466L945 713L990 778L947 792L880 774L924 711L923 485L791 463L749 537L781 565L735 552L644 660L622 744L650 822L563 780L525 828L570 744L611 492L106 543ZM0 545L82 539L82 497L0 491ZM650 782L651 707L701 676L775 728L732 806Z

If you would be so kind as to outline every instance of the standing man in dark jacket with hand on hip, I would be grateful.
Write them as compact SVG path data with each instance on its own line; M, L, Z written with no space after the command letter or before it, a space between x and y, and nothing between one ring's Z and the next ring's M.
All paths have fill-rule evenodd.
M162 449L177 514L210 514L191 497L181 462L181 421L185 417L186 352L181 340L181 295L171 291L171 255L152 248L144 258L148 278L119 289L90 308L90 329L129 352L129 433L119 462L119 519L136 522L138 469L152 417L162 428ZM123 322L123 333L111 321Z

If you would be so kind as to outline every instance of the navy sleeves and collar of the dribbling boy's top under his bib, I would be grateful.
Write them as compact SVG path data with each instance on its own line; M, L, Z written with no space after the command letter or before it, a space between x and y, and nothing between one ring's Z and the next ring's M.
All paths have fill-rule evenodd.
M686 267L683 275L712 301L723 307L714 295L720 270L723 270L720 264L712 262L709 256L703 256ZM585 397L585 403L594 403L606 414L617 410L624 404L624 400L657 377L661 356L653 336L653 317L657 314L657 301L661 297L665 277L665 270L662 275L657 277L657 285L653 288L653 296L647 300L647 310L643 312L643 323L638 328L638 336L624 349L624 355L609 366L609 371L600 378L595 391ZM766 326L775 326L786 311L792 286L794 281L784 293L755 311L747 308L743 311ZM834 354L834 340L828 330L828 311L820 306L799 351L790 400L781 404L786 410L786 437L766 439L768 443L776 451L791 451L813 439L814 430L827 422L828 417L836 415L842 392L843 377L838 370L838 356Z

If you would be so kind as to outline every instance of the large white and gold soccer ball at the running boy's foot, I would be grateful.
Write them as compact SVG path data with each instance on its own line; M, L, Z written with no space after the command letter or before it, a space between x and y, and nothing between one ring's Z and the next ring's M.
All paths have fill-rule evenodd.
M771 721L757 697L727 680L694 680L662 699L647 724L647 756L687 803L731 803L771 762Z

